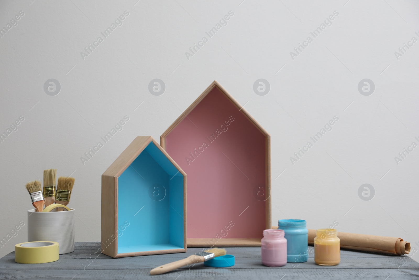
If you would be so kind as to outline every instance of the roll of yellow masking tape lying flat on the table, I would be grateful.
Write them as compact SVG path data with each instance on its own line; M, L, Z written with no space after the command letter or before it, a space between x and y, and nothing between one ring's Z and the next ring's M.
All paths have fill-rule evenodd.
M58 261L58 242L35 241L15 245L15 262L19 264L44 264Z

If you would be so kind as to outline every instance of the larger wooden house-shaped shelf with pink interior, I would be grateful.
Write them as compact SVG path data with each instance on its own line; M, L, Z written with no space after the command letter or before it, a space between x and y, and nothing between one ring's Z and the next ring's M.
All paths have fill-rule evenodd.
M269 133L214 81L160 145L188 175L187 245L260 246L271 228Z

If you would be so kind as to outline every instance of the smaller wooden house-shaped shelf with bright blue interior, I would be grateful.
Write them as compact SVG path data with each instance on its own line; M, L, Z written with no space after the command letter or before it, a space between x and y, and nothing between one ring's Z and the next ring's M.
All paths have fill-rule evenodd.
M186 252L186 174L151 136L102 174L101 249L114 258Z

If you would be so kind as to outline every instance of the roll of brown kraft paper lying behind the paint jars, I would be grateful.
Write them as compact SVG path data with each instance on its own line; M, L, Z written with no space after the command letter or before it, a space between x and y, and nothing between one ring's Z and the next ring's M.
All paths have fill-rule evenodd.
M313 245L316 230L308 230L308 244ZM410 253L410 243L401 238L338 232L341 248L401 256Z

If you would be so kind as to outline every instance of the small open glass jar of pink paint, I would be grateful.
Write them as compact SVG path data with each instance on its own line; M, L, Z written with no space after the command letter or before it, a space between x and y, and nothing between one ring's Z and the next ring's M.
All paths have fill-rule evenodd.
M262 238L262 264L282 267L287 264L287 239L284 230L264 230Z

